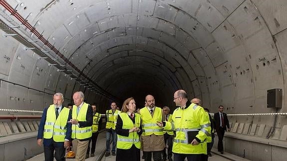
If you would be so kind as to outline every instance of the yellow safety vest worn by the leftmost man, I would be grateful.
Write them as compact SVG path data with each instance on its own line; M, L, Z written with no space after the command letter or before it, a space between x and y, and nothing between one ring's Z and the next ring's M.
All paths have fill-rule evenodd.
M50 105L47 109L46 122L44 125L44 139L51 139L55 142L64 142L67 131L67 120L69 117L70 109L62 107L58 118L56 119L55 106Z

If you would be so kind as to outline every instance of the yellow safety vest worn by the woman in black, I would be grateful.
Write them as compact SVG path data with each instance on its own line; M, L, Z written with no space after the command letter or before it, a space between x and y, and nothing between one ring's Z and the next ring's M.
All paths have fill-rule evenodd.
M141 116L140 114L135 113L135 124L132 122L132 120L129 118L127 113L121 113L119 114L123 121L123 127L122 129L128 129L130 130L133 127L140 127L140 121ZM128 137L117 135L117 148L118 149L130 149L132 145L135 145L136 148L141 148L141 143L139 140L139 135L137 132L129 133Z

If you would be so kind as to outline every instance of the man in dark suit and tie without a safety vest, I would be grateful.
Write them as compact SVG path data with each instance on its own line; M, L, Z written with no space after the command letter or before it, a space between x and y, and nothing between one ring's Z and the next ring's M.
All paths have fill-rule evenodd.
M225 131L229 131L229 121L227 118L226 113L223 113L223 106L219 106L218 107L218 113L214 114L214 121L215 121L215 132L217 133L218 136L218 145L217 145L217 149L218 152L220 152L221 154L223 154L223 137L224 137L224 133ZM226 129L227 127L227 129Z

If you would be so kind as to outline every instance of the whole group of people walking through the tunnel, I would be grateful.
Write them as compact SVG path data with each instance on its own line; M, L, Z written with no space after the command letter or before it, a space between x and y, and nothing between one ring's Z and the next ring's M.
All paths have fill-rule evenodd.
M92 142L91 157L94 157L96 138L100 130L100 114L96 107L84 102L84 94L73 94L72 110L62 107L63 95L56 93L53 104L43 111L39 125L37 143L44 145L45 161L65 161L65 148L72 140L76 161L89 157L89 144ZM199 99L188 100L184 90L174 93L173 101L178 106L173 114L170 108L155 106L152 95L145 97L144 108L136 110L134 98L124 101L121 111L115 102L106 111L106 153L116 156L116 161L207 161L213 144L214 133L219 137L219 152L223 153L222 140L229 123L223 106L214 119L208 109L201 107ZM213 130L213 128L215 130ZM92 139L91 139L92 138ZM110 143L112 150L110 153ZM166 145L167 153L166 153ZM117 154L116 154L117 148ZM54 154L55 152L55 154Z

